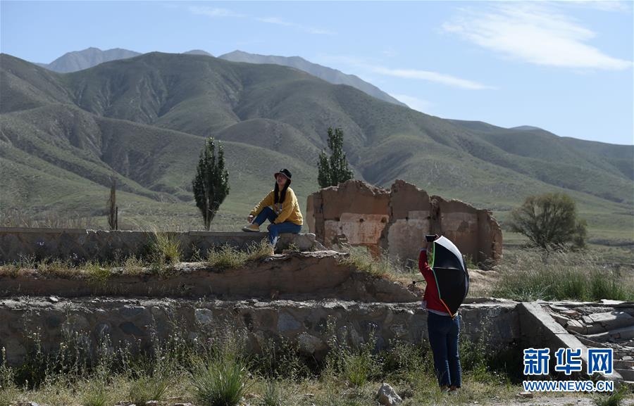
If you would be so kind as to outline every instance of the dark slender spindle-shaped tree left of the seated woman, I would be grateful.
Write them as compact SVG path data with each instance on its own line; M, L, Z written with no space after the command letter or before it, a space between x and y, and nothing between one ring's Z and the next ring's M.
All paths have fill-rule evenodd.
M192 186L205 229L209 230L211 220L229 194L229 172L225 170L225 153L223 146L218 142L216 156L216 141L213 138L205 140Z

